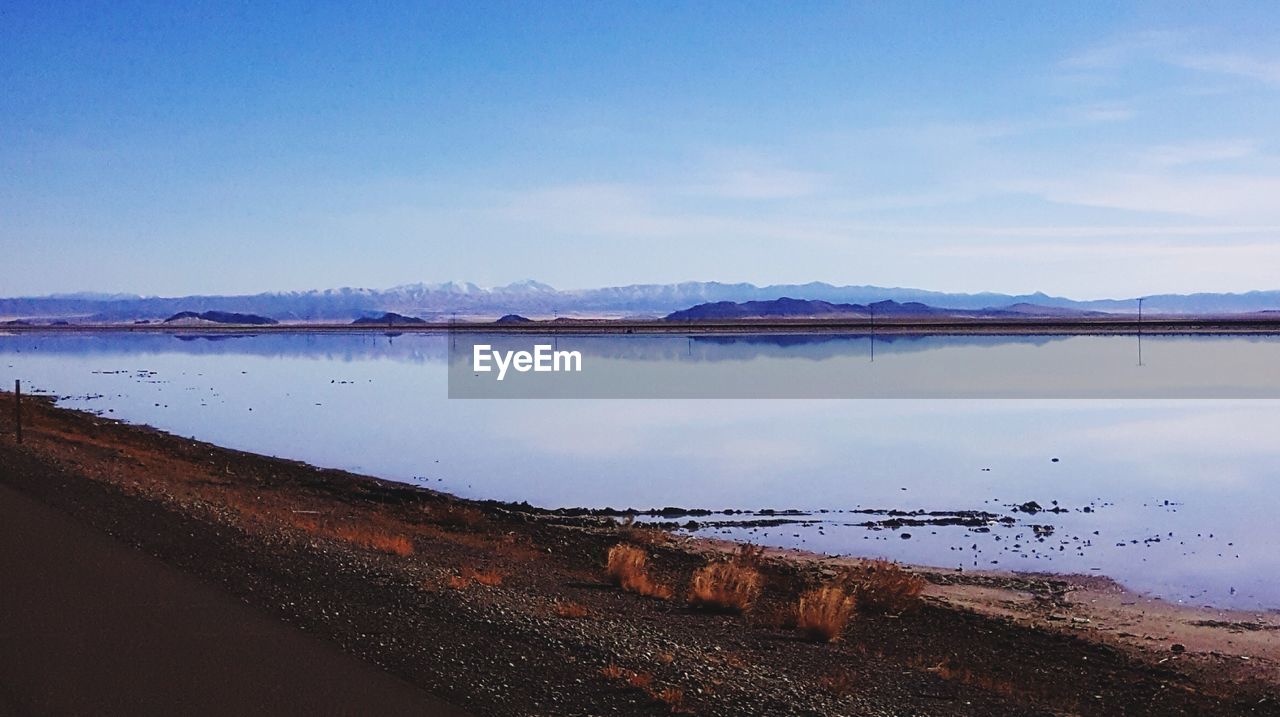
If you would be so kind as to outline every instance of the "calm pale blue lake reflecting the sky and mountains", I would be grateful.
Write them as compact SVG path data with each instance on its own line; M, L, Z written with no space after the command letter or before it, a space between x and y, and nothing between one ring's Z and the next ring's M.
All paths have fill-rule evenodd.
M1053 396L1043 371L1019 369L1050 366L1070 376L1066 396L1180 397L1087 399L449 399L454 341L22 333L0 335L0 378L64 406L471 498L794 510L675 520L772 545L1102 574L1172 602L1280 608L1280 337L1146 337L1142 366L1134 337L899 337L874 343L874 362L865 337L576 339L602 370L685 387L672 394L733 396L768 376L786 391L765 394L846 380L948 396L973 385L972 366L998 366L978 371L983 396Z

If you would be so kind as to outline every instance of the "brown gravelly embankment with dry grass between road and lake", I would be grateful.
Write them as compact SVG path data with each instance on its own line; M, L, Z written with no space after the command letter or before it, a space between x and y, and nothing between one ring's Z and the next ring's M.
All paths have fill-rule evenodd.
M1280 714L1267 616L929 570L878 604L856 561L782 552L742 562L749 609L700 609L714 542L26 406L22 447L0 414L0 481L476 714ZM669 598L614 585L620 543ZM823 586L861 599L828 600L829 643L797 613Z

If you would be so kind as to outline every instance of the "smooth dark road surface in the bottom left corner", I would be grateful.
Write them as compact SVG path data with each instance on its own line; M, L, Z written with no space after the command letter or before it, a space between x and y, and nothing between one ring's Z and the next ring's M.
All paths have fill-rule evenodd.
M466 714L8 485L0 525L0 714Z

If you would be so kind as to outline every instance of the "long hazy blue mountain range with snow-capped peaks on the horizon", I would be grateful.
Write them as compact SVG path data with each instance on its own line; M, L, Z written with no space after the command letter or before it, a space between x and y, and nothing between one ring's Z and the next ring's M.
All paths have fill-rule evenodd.
M666 316L700 303L774 301L782 297L832 305L881 301L922 303L942 310L1001 310L1043 315L1052 310L1133 312L1135 298L1075 301L1065 297L1005 293L943 293L913 288L832 286L826 283L632 284L596 289L559 291L539 282L495 288L471 283L408 284L390 289L324 289L247 296L143 297L131 294L55 294L0 298L0 320L132 321L165 319L178 312L227 311L256 314L280 321L351 321L387 312L429 320L493 319L506 314L548 316ZM1152 314L1240 314L1280 310L1280 291L1247 293L1158 294L1146 297Z

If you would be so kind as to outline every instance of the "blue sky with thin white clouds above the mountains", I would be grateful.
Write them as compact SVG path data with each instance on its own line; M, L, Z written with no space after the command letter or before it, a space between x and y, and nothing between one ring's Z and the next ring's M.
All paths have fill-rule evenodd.
M0 296L1280 288L1276 3L0 4Z

